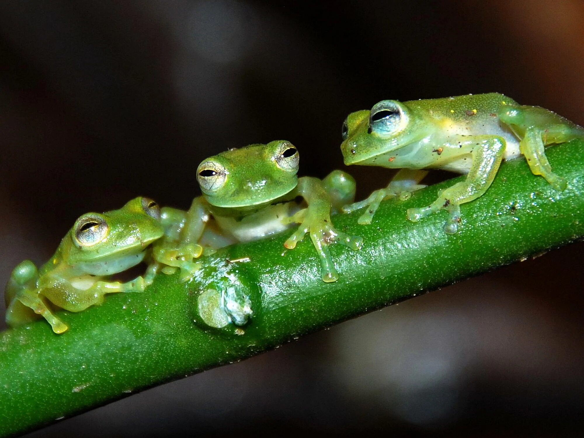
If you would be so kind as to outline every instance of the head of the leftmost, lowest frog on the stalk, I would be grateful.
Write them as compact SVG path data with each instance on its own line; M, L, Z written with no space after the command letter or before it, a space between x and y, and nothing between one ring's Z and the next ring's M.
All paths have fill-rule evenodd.
M79 217L62 239L53 264L76 266L93 275L118 273L140 263L147 246L163 234L158 204L137 197L118 210Z

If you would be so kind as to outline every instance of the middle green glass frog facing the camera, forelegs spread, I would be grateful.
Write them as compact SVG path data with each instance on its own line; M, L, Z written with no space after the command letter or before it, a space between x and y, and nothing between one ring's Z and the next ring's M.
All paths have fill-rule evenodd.
M203 196L196 197L187 212L162 209L166 237L154 250L155 260L180 267L182 279L187 280L197 268L193 258L200 254L199 241L207 239L209 246L218 248L261 239L298 223L300 227L284 246L293 249L310 234L322 280L336 281L329 245L356 250L363 243L362 238L338 231L331 223L331 210L352 202L354 180L341 171L331 172L324 180L298 178L298 162L298 150L288 141L252 144L205 159L197 169ZM297 197L304 199L305 206L294 201Z

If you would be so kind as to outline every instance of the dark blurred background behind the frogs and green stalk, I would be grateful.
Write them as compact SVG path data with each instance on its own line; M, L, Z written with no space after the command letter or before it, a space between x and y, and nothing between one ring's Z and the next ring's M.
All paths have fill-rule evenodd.
M378 100L497 91L584 124L582 23L581 0L0 2L0 280L86 211L188 207L228 147L286 139L301 174L342 168L343 119ZM360 197L390 177L349 171ZM30 436L583 436L583 248Z

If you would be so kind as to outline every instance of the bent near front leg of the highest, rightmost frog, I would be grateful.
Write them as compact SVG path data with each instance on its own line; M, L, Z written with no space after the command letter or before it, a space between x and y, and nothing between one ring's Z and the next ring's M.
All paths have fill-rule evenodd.
M488 135L461 135L440 148L439 162L451 162L471 155L471 168L463 182L440 192L438 199L427 207L408 208L408 219L417 222L444 208L449 218L444 232L454 234L460 223L460 204L477 199L489 188L499 169L505 151L505 140ZM439 164L436 162L436 165Z

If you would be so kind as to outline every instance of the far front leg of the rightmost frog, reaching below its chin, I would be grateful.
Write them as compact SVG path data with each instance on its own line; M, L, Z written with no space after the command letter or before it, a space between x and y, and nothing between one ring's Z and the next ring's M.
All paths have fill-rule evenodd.
M427 175L427 173L427 171L421 169L399 169L387 187L374 190L367 199L346 205L342 210L345 213L352 213L355 210L367 207L367 210L359 217L357 223L360 225L368 225L373 220L373 216L376 213L379 204L384 199L399 197L401 200L406 200L412 195L412 192L415 192L415 190L426 187L425 185L419 184L419 182Z

